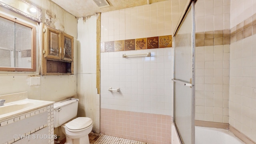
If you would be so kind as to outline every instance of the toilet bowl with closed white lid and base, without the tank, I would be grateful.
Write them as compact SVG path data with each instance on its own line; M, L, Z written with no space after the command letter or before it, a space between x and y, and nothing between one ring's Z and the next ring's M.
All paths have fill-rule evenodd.
M92 131L92 119L78 117L61 126L66 135L65 144L90 144L88 134Z

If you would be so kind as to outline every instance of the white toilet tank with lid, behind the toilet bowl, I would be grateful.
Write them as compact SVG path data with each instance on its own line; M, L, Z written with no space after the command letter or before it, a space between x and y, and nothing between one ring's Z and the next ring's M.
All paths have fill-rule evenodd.
M53 104L54 128L61 126L77 115L78 99L70 98Z

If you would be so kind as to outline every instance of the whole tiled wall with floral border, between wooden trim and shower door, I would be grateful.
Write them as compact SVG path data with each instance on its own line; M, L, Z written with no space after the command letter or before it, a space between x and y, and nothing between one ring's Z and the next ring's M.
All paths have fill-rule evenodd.
M159 43L165 38L172 44L171 35L185 3L186 0L168 0L102 13L102 134L170 144L173 48L172 45L160 48ZM157 41L154 48L148 45L149 38ZM123 48L120 42L135 46ZM137 42L145 42L145 46L138 44L136 48ZM151 56L122 58L123 54L146 52ZM120 88L120 92L110 92L110 87Z

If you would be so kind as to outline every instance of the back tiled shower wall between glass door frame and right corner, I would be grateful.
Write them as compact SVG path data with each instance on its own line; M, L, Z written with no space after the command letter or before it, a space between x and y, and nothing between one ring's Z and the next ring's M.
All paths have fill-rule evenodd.
M196 120L228 123L230 0L196 2Z

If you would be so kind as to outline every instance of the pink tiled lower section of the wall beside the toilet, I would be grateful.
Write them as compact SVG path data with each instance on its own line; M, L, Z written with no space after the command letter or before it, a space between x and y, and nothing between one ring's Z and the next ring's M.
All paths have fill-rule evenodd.
M102 108L102 132L120 138L170 144L171 116Z

